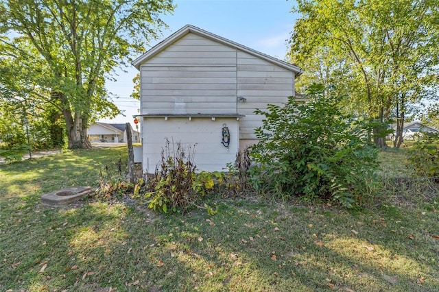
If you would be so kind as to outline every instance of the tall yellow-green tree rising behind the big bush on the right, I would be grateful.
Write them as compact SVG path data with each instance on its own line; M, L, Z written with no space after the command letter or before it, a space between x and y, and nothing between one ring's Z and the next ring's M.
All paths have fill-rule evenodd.
M333 80L347 87L349 104L369 119L398 121L399 147L407 106L432 97L438 88L437 1L298 0L296 11L302 16L292 33L294 62L305 74L318 58L346 62L349 74ZM329 53L322 56L322 51ZM375 142L385 147L383 137Z

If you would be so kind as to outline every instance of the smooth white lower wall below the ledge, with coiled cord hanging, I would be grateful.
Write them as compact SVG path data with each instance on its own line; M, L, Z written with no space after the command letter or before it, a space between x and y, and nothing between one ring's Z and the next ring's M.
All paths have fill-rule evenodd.
M230 131L230 145L224 147L222 124ZM143 118L143 172L154 173L161 162L165 138L174 144L180 142L187 150L195 149L194 162L200 170L225 171L227 162L234 162L239 147L239 121L236 118ZM194 147L195 145L195 147ZM188 151L186 151L188 154Z

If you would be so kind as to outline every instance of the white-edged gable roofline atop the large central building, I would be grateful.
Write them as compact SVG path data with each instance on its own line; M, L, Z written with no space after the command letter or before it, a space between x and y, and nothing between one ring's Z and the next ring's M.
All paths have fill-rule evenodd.
M149 51L146 53L143 53L143 55L139 56L136 60L132 61L132 65L137 68L137 70L140 69L140 66L143 62L149 60L150 58L156 56L157 53L160 53L170 45L172 45L177 40L180 40L180 38L186 36L187 34L192 33L196 34L198 36L202 36L204 38L208 38L209 40L213 40L215 42L219 42L222 45L226 45L228 47L232 47L234 49L239 49L240 51L244 51L246 53L249 53L252 56L255 56L257 58L261 58L262 60L265 60L267 62L270 62L272 64L275 64L277 66L281 66L284 69L287 69L289 71L293 71L296 75L296 77L300 74L302 74L302 69L300 69L298 66L289 64L287 62L278 60L277 58L274 58L272 56L268 56L265 53L261 53L259 51L255 51L254 49L250 49L249 47L246 47L244 45L239 45L237 42L233 42L231 40L228 40L227 38L223 38L222 36L217 36L216 34L212 34L211 32L207 32L204 29L200 29L198 27L195 27L193 25L185 25L184 27L178 29L177 32L174 34L171 34L168 38L165 38L162 42L159 42L157 45L152 47Z

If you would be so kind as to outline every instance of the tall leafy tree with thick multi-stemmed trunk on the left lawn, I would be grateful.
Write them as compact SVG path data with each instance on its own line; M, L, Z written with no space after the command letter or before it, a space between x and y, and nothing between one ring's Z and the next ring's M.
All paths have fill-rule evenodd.
M93 116L118 112L105 78L145 51L165 26L159 16L173 10L171 0L0 0L0 41L8 58L35 60L29 78L45 72L42 100L62 112L69 148L87 148Z

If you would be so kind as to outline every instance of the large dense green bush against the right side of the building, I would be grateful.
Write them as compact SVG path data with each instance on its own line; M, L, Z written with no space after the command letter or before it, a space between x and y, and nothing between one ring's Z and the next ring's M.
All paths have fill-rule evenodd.
M259 193L333 199L346 207L372 193L378 151L370 127L342 114L323 89L310 86L305 104L290 97L284 107L256 111L265 115L250 152L250 179Z

